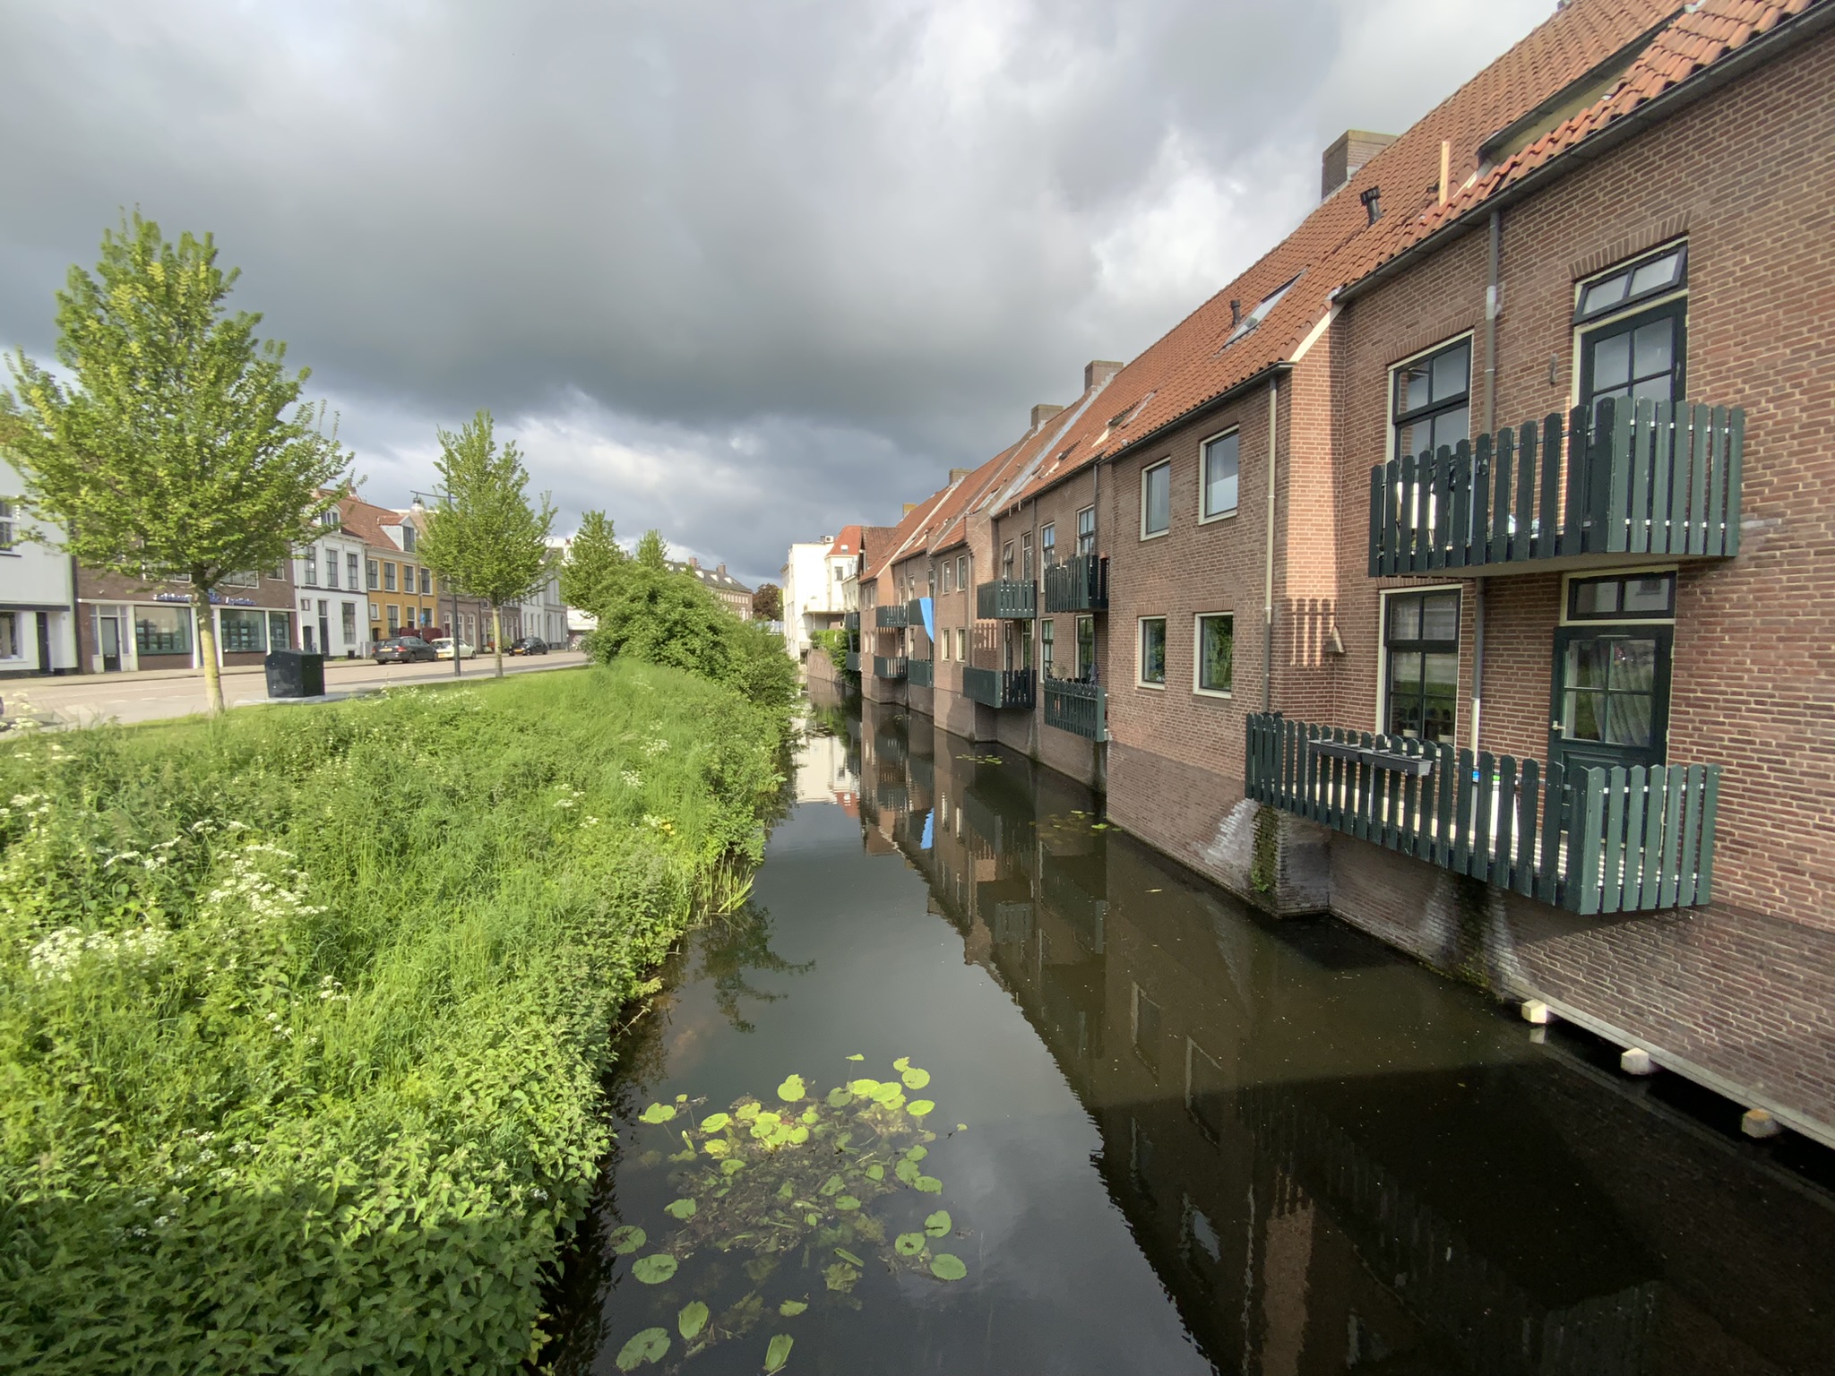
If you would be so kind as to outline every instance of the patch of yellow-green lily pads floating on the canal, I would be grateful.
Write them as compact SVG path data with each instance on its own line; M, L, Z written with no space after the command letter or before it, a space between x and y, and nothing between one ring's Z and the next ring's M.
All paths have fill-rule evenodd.
M666 1171L677 1198L653 1231L622 1224L607 1235L620 1255L653 1248L631 1266L655 1295L637 1299L648 1325L618 1350L620 1370L688 1361L813 1306L861 1308L855 1292L870 1273L967 1277L967 1264L941 1249L954 1220L936 1207L943 1182L929 1174L936 1104L906 1097L930 1084L930 1071L899 1057L892 1075L818 1092L793 1071L769 1093L714 1112L677 1095L635 1114L631 1161ZM657 1341L670 1314L679 1354ZM765 1370L789 1361L793 1339L771 1337Z

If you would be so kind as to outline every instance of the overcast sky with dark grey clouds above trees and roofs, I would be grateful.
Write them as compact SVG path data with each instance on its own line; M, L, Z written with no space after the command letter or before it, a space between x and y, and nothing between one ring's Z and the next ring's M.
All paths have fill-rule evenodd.
M0 345L215 231L363 495L490 407L571 530L776 578L1127 360L1551 0L0 0Z

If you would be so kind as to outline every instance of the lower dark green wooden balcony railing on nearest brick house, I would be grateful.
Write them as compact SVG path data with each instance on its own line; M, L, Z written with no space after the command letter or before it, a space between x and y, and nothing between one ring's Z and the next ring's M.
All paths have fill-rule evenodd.
M1574 769L1255 714L1244 793L1578 914L1712 897L1719 765Z

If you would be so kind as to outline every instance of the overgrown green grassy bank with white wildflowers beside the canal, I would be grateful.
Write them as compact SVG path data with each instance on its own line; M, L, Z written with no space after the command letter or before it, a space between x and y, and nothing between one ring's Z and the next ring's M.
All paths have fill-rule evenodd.
M0 1354L527 1359L615 1013L780 730L620 662L0 749Z

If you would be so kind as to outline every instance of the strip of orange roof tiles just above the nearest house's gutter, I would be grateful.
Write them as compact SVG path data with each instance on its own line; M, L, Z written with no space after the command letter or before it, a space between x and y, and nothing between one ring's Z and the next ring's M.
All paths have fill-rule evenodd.
M1571 152L1607 125L1624 119L1640 105L1688 81L1754 37L1769 33L1780 22L1802 15L1815 4L1818 0L1701 0L1697 6L1681 9L1593 105L1505 158L1444 205L1429 205L1413 220L1409 233L1369 266L1382 266L1387 259L1477 209L1505 187Z

